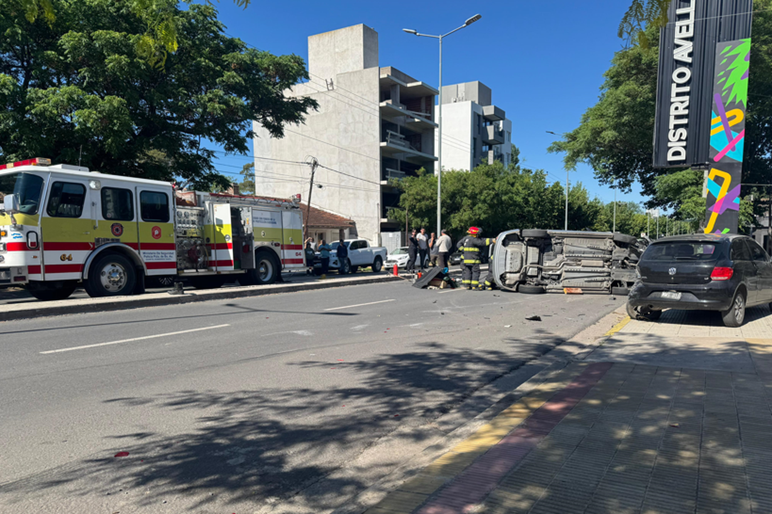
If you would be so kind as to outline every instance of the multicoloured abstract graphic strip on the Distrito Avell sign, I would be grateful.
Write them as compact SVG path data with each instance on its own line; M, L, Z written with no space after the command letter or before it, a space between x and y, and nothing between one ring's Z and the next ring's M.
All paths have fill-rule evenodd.
M750 38L716 45L705 233L736 233L740 217Z

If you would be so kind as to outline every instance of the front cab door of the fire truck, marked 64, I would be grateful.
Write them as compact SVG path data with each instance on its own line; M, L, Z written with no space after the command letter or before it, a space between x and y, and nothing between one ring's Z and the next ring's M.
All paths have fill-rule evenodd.
M95 244L92 201L95 191L86 180L52 178L41 211L40 235L46 281L76 281Z

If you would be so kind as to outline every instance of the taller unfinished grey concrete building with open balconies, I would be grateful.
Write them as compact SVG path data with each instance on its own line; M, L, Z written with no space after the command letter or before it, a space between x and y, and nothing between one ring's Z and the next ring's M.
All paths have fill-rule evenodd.
M256 193L306 199L310 166L297 162L316 157L321 188L312 204L354 220L358 237L381 244L381 232L401 228L391 217L399 195L389 179L434 172L438 90L378 66L378 33L366 25L310 36L308 70L310 82L286 94L310 96L319 110L286 127L282 139L254 124Z

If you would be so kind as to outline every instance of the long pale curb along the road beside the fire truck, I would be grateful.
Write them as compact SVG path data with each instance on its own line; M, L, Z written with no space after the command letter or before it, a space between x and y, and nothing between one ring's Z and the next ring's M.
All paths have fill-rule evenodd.
M278 284L270 286L226 287L216 290L193 290L179 296L168 293L141 294L130 297L83 298L79 300L63 300L66 304L56 305L55 302L45 302L34 307L20 307L10 311L0 312L0 321L13 321L41 316L60 316L63 314L81 314L103 311L125 311L138 307L160 307L164 305L190 304L198 301L227 300L263 296L267 294L292 293L295 291L314 291L332 287L358 286L378 284L379 282L397 281L401 277L393 275L377 275L363 279L329 280L303 282L300 284ZM41 302L43 303L43 302ZM58 303L58 302L56 302ZM53 304L53 305L52 305Z

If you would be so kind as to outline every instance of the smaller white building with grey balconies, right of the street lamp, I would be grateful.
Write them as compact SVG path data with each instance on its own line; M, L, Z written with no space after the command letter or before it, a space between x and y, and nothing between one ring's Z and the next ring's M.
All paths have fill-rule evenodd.
M512 122L491 103L490 88L479 81L442 86L442 169L494 160L512 160Z

